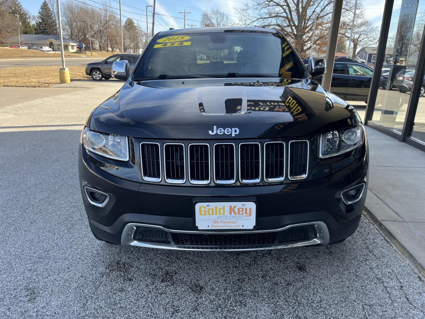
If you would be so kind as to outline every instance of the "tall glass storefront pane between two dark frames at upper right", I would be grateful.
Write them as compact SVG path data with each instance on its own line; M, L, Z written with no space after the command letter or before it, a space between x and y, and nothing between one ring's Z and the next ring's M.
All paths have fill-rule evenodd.
M424 10L425 0L394 1L385 61L382 66L375 66L382 69L385 77L377 92L372 121L399 133L405 121L410 80L412 72L414 77L423 37Z

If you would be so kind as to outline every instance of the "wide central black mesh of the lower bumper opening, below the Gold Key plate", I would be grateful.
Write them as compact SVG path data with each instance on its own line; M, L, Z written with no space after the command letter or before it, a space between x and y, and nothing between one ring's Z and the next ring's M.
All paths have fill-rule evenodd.
M181 234L173 233L176 245L188 246L244 246L273 244L277 232L253 234Z

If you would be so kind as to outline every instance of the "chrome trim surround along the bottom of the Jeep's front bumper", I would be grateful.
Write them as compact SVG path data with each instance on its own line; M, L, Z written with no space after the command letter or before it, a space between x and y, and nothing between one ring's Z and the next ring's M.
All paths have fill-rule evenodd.
M317 231L317 237L308 241L301 242L291 242L291 243L277 243L273 244L270 247L258 247L258 248L235 248L237 246L210 246L211 249L208 249L208 246L201 246L200 248L185 248L180 247L174 243L163 244L163 243L153 243L153 242L139 242L133 239L134 231L136 227L146 227L146 228L156 228L162 231L167 231L169 233L183 233L183 234L252 234L252 233L269 233L269 232L279 232L285 231L289 228L314 225ZM300 246L309 246L309 245L327 245L329 244L329 231L328 227L324 222L306 222L300 224L288 225L279 229L271 229L266 231L175 231L158 225L146 225L138 223L130 223L125 225L124 230L122 231L121 236L121 245L122 246L138 246L145 248L160 248L160 249L171 249L171 250L182 250L182 251L256 251L264 249L277 249L277 248L289 248L289 247L300 247Z

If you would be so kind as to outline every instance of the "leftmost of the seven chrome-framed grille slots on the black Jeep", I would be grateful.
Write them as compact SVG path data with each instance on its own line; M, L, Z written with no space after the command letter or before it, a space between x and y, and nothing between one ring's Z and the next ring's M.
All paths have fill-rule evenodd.
M160 182L161 174L161 153L160 145L155 142L140 143L140 165L142 178L147 182Z

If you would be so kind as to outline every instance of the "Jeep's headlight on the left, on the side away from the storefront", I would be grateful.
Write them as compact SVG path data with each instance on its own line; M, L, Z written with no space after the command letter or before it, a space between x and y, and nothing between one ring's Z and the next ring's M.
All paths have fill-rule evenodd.
M128 140L126 136L100 134L84 128L82 135L86 150L103 157L128 161Z

